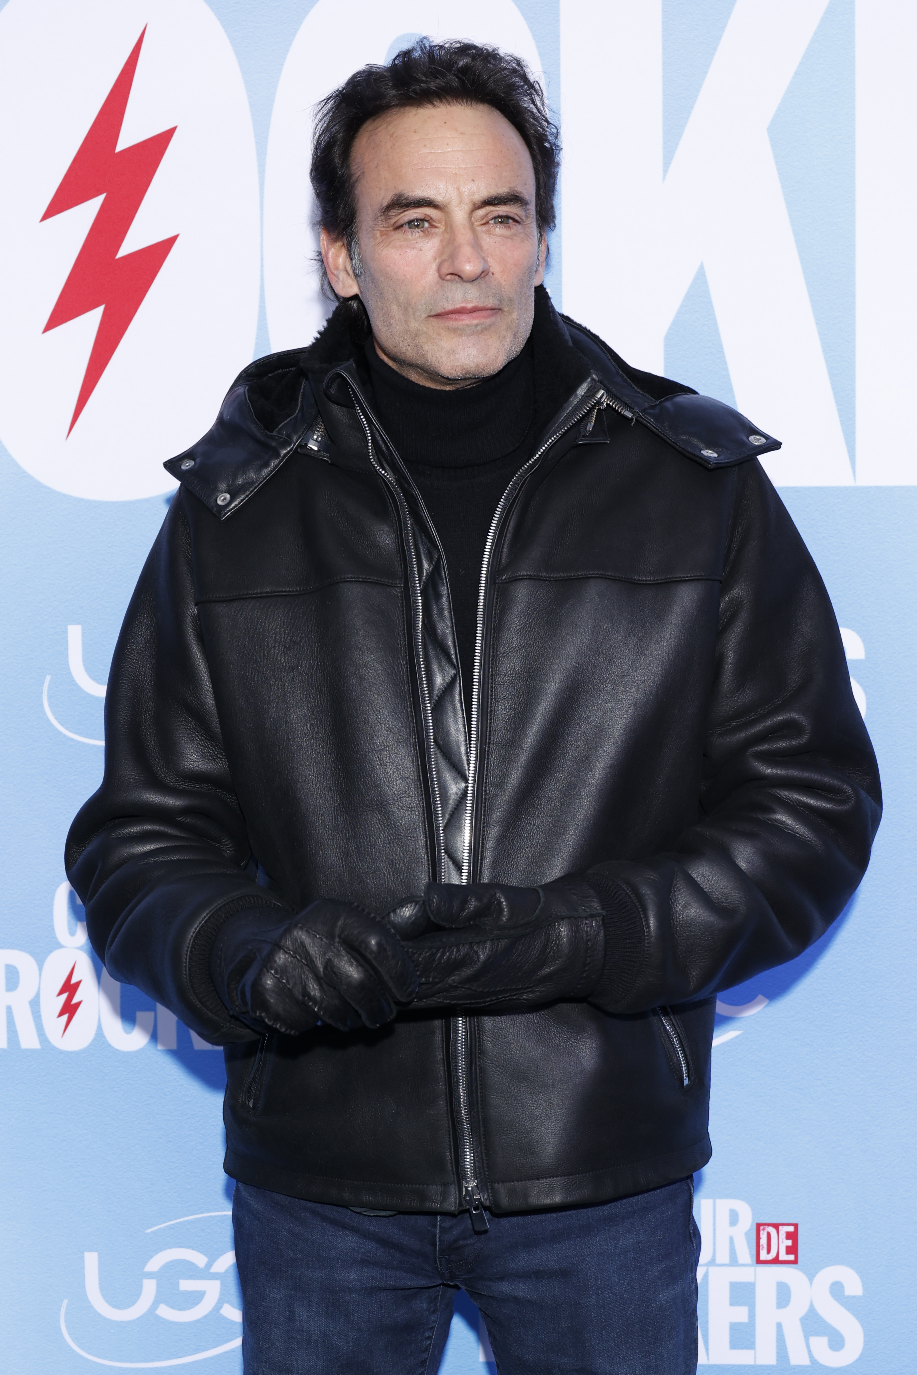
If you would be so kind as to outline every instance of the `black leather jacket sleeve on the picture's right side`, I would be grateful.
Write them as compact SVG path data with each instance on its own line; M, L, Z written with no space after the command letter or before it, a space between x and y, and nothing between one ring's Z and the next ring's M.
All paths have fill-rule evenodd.
M753 461L738 473L696 825L587 874L606 912L590 1001L639 1012L800 954L863 876L879 769L825 586Z

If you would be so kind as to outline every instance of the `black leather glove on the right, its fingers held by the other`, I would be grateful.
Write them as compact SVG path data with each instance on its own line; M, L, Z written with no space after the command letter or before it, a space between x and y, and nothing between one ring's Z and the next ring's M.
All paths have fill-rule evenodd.
M385 921L418 972L418 1008L587 998L605 968L604 908L575 876L542 888L430 883Z

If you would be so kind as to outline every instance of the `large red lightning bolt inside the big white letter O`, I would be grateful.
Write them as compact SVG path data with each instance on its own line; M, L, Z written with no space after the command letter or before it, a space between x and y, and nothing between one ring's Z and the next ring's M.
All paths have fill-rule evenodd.
M175 234L135 253L117 256L175 133L175 128L166 129L117 150L146 32L144 28L41 216L49 220L104 195L43 330L47 334L58 324L104 307L67 436L179 236Z

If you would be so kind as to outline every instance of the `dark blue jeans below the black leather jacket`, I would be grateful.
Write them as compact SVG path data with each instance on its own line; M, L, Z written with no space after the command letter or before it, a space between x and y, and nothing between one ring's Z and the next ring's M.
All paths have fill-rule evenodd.
M236 1184L245 1375L436 1375L455 1291L499 1375L694 1375L693 1187L594 1207L366 1217Z

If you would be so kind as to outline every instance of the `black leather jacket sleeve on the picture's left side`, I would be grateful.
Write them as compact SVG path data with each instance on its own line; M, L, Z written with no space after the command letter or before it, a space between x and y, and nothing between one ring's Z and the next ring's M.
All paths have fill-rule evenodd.
M77 814L66 872L96 954L209 1041L250 1040L208 961L221 923L287 908L254 883L194 605L180 491L135 588L104 705L102 786Z

